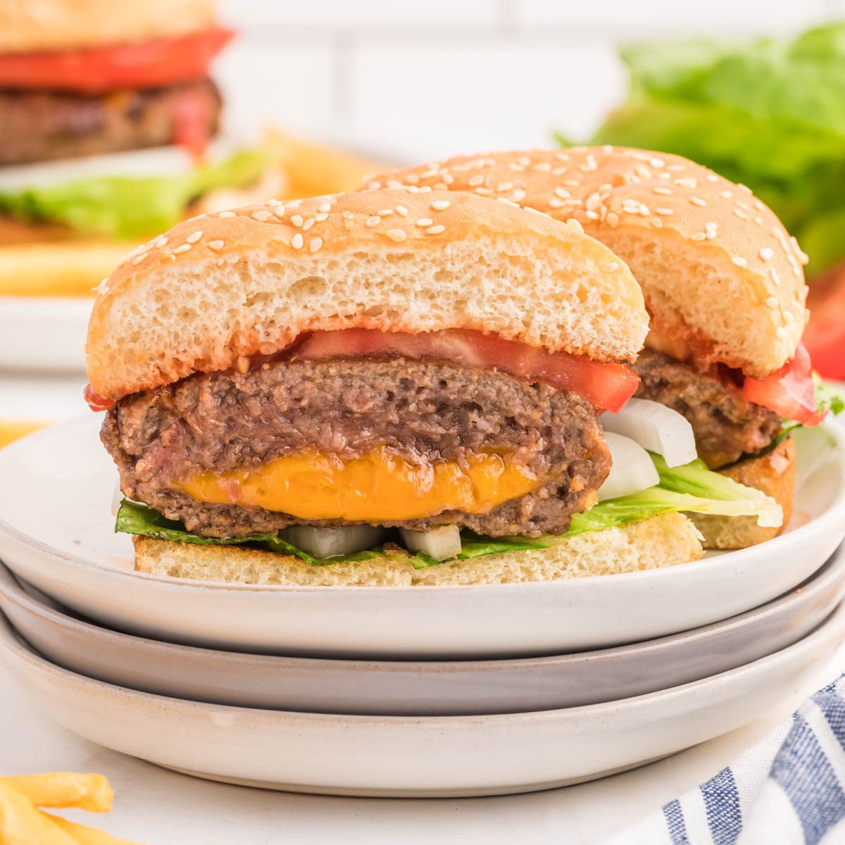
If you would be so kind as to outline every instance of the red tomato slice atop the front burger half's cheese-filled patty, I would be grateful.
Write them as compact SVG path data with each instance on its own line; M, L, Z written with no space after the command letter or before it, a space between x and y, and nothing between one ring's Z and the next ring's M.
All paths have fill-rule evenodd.
M499 369L577 393L602 411L619 411L634 395L640 377L621 363L600 363L583 355L548 352L480 331L450 329L407 335L374 329L315 331L292 348L292 357L402 356L450 361L464 367Z

